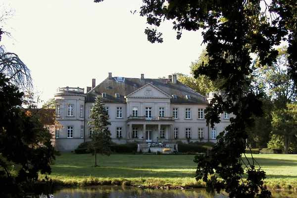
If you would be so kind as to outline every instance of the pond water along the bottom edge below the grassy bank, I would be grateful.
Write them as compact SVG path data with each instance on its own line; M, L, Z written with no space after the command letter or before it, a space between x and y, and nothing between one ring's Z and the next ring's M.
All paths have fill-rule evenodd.
M273 192L273 198L296 198L296 192ZM205 189L150 190L135 187L96 186L55 191L52 198L228 198L226 193L209 194Z

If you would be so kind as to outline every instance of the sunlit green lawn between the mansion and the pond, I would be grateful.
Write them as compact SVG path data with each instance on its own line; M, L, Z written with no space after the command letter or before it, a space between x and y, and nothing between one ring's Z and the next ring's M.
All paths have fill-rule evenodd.
M249 154L247 156L250 156ZM254 155L267 173L271 189L297 189L297 155ZM93 167L91 154L62 153L52 165L51 178L67 185L117 184L203 187L196 182L194 155L99 155L100 167Z

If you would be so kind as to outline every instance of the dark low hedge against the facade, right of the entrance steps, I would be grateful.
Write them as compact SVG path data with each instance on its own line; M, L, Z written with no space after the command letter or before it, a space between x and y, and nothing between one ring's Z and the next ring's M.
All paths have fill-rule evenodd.
M206 153L207 150L211 149L213 146L213 143L189 143L185 144L182 142L178 143L178 151L179 152L190 152L190 153L195 153L195 152L204 152Z

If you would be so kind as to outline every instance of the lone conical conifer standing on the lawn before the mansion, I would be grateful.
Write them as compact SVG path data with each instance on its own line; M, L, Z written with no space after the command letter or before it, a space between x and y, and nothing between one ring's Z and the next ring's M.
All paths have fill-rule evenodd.
M110 155L111 138L110 131L108 130L108 114L104 109L104 104L98 96L95 100L94 107L92 108L90 118L94 119L89 122L92 126L90 149L94 150L95 166L97 165L97 153Z

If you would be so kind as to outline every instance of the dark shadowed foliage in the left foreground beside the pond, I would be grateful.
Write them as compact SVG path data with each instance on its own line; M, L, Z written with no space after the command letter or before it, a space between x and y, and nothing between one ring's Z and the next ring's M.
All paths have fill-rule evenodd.
M50 174L54 157L51 135L38 117L21 108L23 93L0 73L0 197L42 193L38 173ZM11 164L15 167L11 170ZM49 183L45 182L45 186ZM41 187L41 186L40 186ZM49 190L49 189L48 189ZM49 193L45 192L44 193Z

